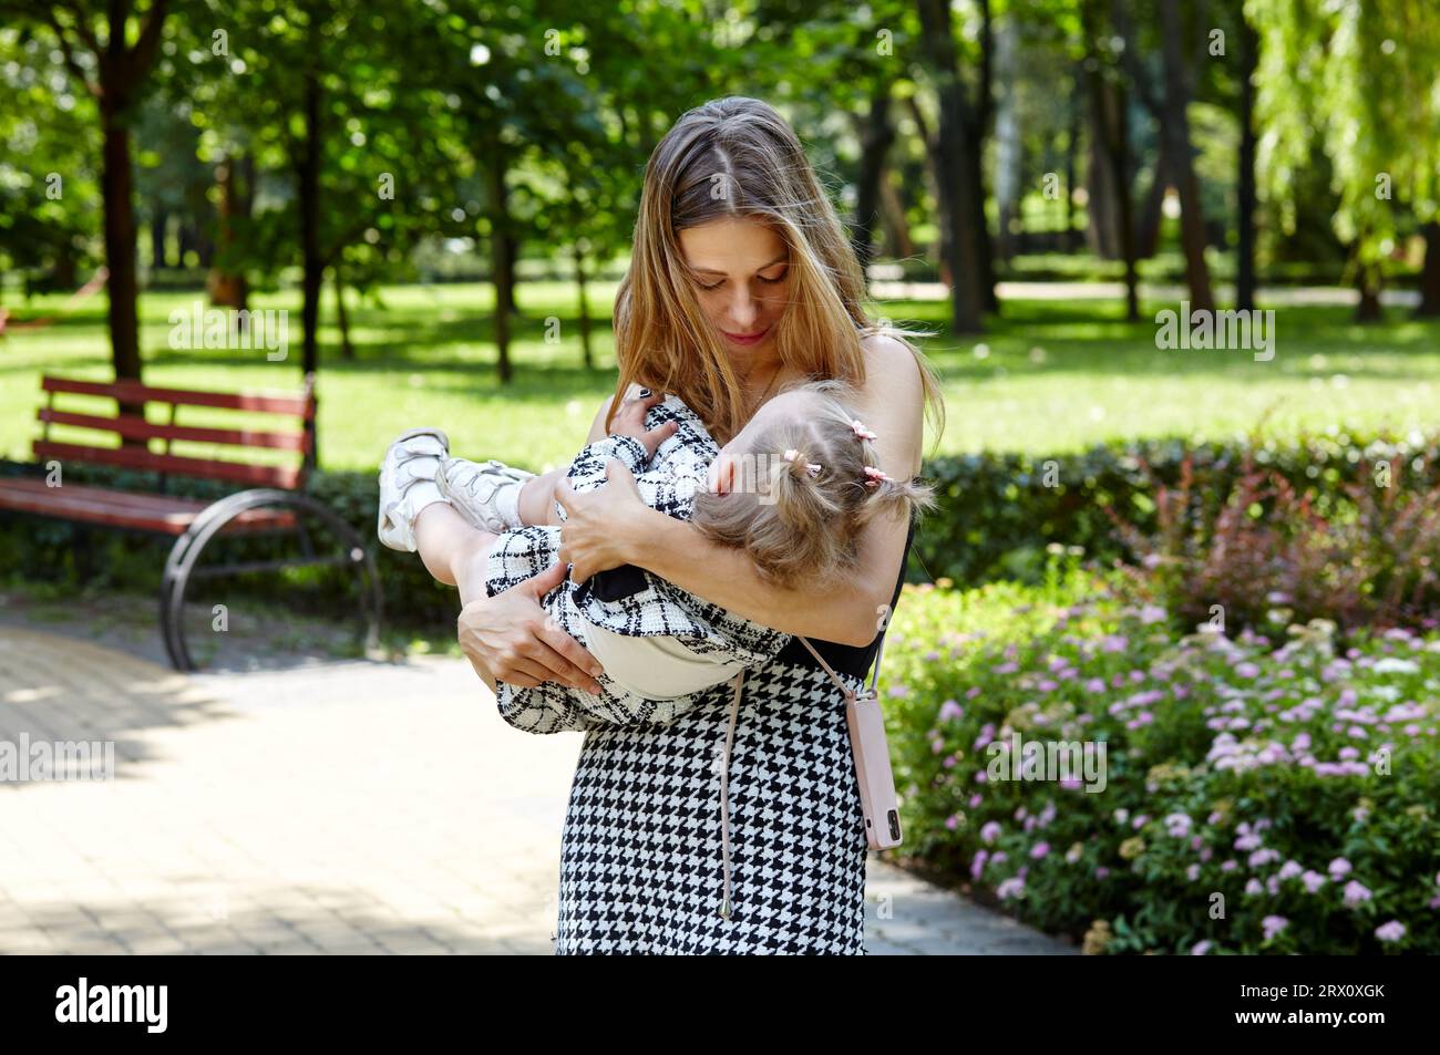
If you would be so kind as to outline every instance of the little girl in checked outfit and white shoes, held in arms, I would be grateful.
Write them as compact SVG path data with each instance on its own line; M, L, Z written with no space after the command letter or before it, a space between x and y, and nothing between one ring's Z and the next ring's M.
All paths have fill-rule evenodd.
M760 407L724 448L717 448L690 407L667 396L644 420L638 415L616 419L616 432L586 446L567 479L575 491L603 486L605 465L616 458L631 469L651 508L744 550L765 579L825 589L855 570L858 538L874 515L933 505L927 485L894 481L876 468L876 436L842 402L850 394L835 380L793 386ZM416 433L419 448L412 442ZM448 545L471 547L472 558L485 560L490 596L553 566L564 521L560 504L553 510L557 524L494 533L494 527L518 522L513 495L510 510L497 517L495 492L475 486L492 479L498 463L477 466L449 458L445 446L444 433L415 430L387 452L380 472L382 541L413 551L413 518L429 501L449 501L481 534L467 533ZM528 475L500 468L516 482ZM465 554L423 556L428 564L452 567ZM626 571L642 581L624 596L606 590L613 579L596 576L580 586L566 580L541 599L541 607L605 668L602 692L553 681L533 688L498 682L505 721L531 733L668 723L684 712L693 694L770 661L789 643L791 635L648 571Z

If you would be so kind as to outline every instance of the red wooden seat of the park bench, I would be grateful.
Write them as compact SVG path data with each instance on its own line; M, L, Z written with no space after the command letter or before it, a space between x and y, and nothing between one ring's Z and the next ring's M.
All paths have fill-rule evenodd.
M200 498L111 491L84 484L52 488L46 486L43 479L30 476L0 479L0 510L168 535L184 533L207 505L209 502ZM222 534L289 528L294 522L289 510L248 510L226 525Z

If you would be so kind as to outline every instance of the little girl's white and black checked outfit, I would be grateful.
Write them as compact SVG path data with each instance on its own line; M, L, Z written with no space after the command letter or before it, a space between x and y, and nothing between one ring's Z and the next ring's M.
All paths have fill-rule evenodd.
M688 520L696 494L707 486L710 462L719 453L700 417L675 396L649 409L648 429L678 425L649 458L639 440L606 436L588 445L570 463L567 479L577 492L605 485L605 466L622 461L635 476L641 501L660 512ZM564 520L564 508L556 504ZM485 592L503 590L540 574L560 556L560 527L531 525L500 534L485 569ZM681 590L639 569L621 576L592 577L576 586L569 579L540 599L540 606L560 629L589 648L592 626L631 638L665 636L691 653L714 662L753 666L773 659L791 635L737 616L719 605ZM500 715L526 733L603 728L639 721L668 723L685 711L698 694L670 699L636 695L602 674L602 692L590 694L559 682L536 687L498 684Z

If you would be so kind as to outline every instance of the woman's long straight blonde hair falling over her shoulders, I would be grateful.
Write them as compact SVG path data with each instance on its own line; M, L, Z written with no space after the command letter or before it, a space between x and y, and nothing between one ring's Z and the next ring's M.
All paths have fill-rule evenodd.
M744 426L742 384L687 276L678 232L752 216L789 248L789 291L778 324L780 361L812 379L861 387L861 340L886 334L916 357L936 442L945 427L939 381L909 340L924 331L871 321L864 278L799 140L773 107L727 96L685 112L645 167L635 248L615 296L619 381L606 432L632 383L690 406L719 442Z

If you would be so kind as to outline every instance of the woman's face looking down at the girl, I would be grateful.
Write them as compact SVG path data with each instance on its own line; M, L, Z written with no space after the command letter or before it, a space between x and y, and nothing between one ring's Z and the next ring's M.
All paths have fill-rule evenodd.
M755 217L733 216L678 235L696 298L726 347L742 360L775 347L785 311L789 249Z

